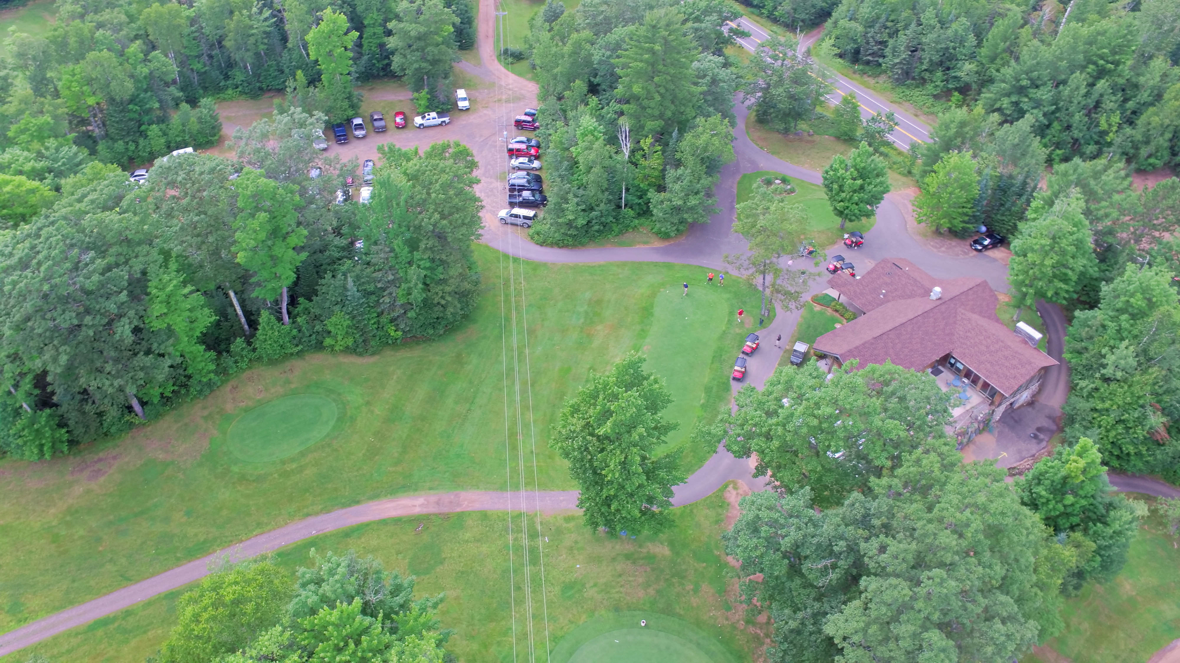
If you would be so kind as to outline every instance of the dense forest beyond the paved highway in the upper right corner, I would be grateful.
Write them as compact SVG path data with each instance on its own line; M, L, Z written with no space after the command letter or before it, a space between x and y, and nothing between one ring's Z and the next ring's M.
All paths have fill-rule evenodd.
M870 73L1027 122L1049 163L1113 153L1152 170L1180 158L1178 25L1175 0L844 0L826 32Z

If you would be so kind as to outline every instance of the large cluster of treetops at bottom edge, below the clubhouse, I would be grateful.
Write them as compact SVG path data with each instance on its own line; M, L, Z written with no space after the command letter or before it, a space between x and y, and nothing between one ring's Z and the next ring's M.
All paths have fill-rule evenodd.
M773 661L1010 661L1038 641L1060 576L1003 471L943 438L820 511L808 487L754 493L722 534L774 619Z

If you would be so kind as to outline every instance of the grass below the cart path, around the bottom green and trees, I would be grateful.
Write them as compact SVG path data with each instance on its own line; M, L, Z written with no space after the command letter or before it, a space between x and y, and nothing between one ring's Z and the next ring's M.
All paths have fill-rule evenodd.
M599 635L586 634L588 629L602 631L603 623L608 628L638 628L640 618L656 622L658 616L675 618L666 619L670 624L662 626L664 630L690 639L708 639L708 643L697 644L712 650L714 656L709 661L750 661L760 638L752 630L738 625L742 615L730 603L735 597L736 572L726 563L719 539L727 508L717 492L706 500L675 510L671 531L634 540L591 532L577 513L542 517L540 533L549 537L549 543L544 549L544 605L538 589L538 569L532 569L537 661L545 661L544 611L549 616L549 649L555 662L563 661L563 655L569 656L569 649ZM448 649L459 661L512 661L506 518L506 513L494 512L393 518L284 547L278 551L277 560L294 571L309 563L312 547L321 553L353 549L362 554L373 554L386 567L417 576L418 596L446 592L440 617L444 628L457 631ZM536 520L530 518L530 526L535 524ZM419 525L422 525L421 530L415 531ZM532 540L536 546L536 539ZM514 552L516 644L518 651L524 654L524 573L519 546ZM537 556L533 554L532 559L536 562ZM146 600L0 661L22 663L35 652L54 663L140 663L156 651L175 624L173 606L181 593L177 590ZM647 616L625 619L631 616L625 611L641 611ZM611 621L625 623L611 624ZM585 628L563 644L566 636L583 624ZM591 644L590 649L614 643ZM584 661L584 655L589 652L582 650L578 658L564 661ZM660 654L662 656L644 658L644 663L671 662L668 658L671 650L661 650Z

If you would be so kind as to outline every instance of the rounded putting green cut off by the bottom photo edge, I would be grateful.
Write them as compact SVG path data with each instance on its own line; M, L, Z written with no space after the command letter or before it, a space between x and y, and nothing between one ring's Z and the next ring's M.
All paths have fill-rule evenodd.
M640 625L640 619L647 625ZM716 636L714 636L716 637ZM729 663L696 626L654 612L608 613L582 624L553 650L555 663Z

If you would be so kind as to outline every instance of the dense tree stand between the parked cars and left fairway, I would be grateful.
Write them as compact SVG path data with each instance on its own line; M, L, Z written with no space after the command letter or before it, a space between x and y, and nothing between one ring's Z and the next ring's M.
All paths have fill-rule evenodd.
M236 159L181 155L145 184L91 164L51 210L0 232L4 453L48 458L251 361L372 353L471 309L471 150L382 145L372 203L340 205L355 162L297 137L323 122L290 109L238 130Z

